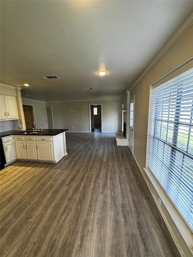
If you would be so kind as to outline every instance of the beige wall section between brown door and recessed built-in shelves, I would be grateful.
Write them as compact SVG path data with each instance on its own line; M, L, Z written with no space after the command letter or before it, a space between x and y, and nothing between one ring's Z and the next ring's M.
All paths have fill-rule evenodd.
M46 102L36 101L27 98L22 98L22 104L33 105L36 120L36 127L48 129L48 120L46 115Z

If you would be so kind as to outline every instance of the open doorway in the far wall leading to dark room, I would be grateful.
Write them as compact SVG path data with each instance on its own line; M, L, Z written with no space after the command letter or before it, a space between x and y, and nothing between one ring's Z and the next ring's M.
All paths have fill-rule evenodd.
M103 132L102 128L102 104L89 105L90 132Z

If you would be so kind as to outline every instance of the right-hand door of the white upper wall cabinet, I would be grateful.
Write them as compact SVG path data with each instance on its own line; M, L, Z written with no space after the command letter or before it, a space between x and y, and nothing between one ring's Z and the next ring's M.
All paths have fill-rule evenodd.
M18 119L17 104L15 96L4 96L5 108L7 111L7 119L14 120Z

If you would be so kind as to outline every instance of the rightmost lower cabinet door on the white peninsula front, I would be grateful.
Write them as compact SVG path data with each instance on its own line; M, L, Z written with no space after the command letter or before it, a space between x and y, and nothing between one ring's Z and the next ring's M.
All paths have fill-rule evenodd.
M36 142L36 146L38 160L54 161L52 142Z

